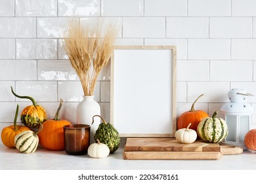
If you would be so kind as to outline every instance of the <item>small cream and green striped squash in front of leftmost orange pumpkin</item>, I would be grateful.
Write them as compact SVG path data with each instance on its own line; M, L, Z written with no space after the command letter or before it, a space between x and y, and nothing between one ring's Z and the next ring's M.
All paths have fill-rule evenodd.
M16 149L23 153L35 152L38 146L39 138L37 133L31 130L22 131L14 138Z

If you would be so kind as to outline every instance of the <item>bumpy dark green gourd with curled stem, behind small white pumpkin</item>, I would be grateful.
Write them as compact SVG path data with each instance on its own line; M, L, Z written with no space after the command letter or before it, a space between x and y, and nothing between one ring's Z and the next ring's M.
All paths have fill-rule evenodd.
M98 115L95 115L98 116ZM93 122L94 118L93 116ZM110 148L110 154L116 152L116 150L119 148L120 145L120 137L117 129L114 127L114 125L110 123L106 123L106 121L101 117L102 123L98 125L98 129L95 131L95 142L98 139L103 144L106 144L108 148ZM92 122L92 124L93 124Z

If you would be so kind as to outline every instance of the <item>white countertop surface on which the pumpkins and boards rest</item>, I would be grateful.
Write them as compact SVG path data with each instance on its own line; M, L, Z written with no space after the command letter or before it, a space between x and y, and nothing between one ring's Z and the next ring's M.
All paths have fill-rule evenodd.
M255 170L255 157L256 152L245 151L217 160L127 160L120 146L114 154L96 159L40 147L33 154L22 154L16 148L0 145L0 170Z

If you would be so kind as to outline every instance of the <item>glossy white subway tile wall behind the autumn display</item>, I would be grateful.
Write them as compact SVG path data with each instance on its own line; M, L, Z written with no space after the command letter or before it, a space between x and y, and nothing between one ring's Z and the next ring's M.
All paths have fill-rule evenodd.
M229 101L228 90L243 88L255 95L247 99L255 126L255 9L255 0L1 0L0 130L12 124L17 104L31 105L11 86L43 105L48 118L63 99L60 118L75 122L83 91L63 41L72 18L118 22L117 45L177 46L178 117L202 93L195 108L211 115ZM94 93L107 121L110 80L108 63Z

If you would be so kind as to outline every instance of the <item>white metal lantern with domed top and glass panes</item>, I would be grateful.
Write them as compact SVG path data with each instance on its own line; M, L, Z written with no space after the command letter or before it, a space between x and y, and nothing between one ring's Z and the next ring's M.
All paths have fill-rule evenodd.
M253 96L240 88L234 88L228 92L230 103L225 103L220 111L228 125L228 136L224 139L227 144L233 144L245 148L244 136L249 131L251 104L245 103L247 96Z

